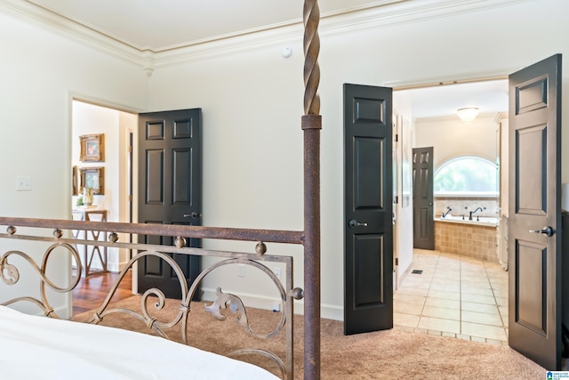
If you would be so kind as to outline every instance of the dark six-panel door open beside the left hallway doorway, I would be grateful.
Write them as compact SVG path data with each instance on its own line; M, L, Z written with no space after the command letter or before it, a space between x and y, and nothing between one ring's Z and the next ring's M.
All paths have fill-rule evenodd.
M139 222L201 225L201 109L139 115ZM144 243L173 245L173 238L140 236ZM188 247L199 247L188 239ZM172 255L188 281L200 271L198 256ZM179 279L162 259L139 262L138 292L159 287L180 298ZM196 292L199 297L199 292Z

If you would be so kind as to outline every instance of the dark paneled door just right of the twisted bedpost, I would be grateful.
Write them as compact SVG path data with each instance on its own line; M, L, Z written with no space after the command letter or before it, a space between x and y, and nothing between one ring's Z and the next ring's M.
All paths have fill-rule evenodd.
M392 91L344 85L344 333L393 327Z

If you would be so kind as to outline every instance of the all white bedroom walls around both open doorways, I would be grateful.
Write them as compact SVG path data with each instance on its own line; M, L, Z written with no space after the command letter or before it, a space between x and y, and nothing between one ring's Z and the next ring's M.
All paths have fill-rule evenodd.
M397 86L507 75L564 53L567 119L569 2L479 5L488 4L499 6L432 20L415 19L433 12L406 12L359 23L357 29L349 25L354 15L321 23L323 316L341 319L343 308L342 84ZM338 28L328 28L332 21ZM131 109L201 107L204 224L301 230L302 36L300 29L293 37L289 29L284 32L257 49L157 65L148 92L140 67L0 16L0 34L11 36L0 39L0 98L8 105L0 127L0 158L10 163L0 182L2 214L68 217L68 97L76 92ZM280 56L284 44L293 46L288 60ZM44 159L29 159L45 147L56 149ZM563 160L569 167L569 153ZM34 189L42 193L14 191L18 174L32 176ZM563 182L569 182L566 169ZM252 251L254 243L206 241L204 246ZM294 255L295 282L301 286L301 247L268 249ZM226 283L220 279L216 285ZM238 287L261 294L254 282Z

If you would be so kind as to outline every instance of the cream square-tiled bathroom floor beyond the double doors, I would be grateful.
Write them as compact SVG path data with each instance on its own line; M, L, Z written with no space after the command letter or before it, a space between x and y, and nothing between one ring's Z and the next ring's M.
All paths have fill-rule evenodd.
M415 249L394 294L394 324L425 334L508 344L508 272L500 263Z

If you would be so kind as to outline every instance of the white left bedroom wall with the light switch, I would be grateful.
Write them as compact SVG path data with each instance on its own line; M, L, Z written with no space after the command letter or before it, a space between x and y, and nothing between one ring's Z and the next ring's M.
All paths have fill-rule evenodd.
M71 99L89 94L124 108L145 109L148 77L137 65L1 12L0 36L0 214L69 219ZM31 178L31 191L15 190L19 175ZM51 236L51 230L45 234ZM22 248L17 241L0 240L0 255L12 247ZM41 260L44 249L27 252ZM58 257L52 278L65 282L68 258ZM21 291L36 295L38 282L28 268L21 265ZM3 287L0 299L19 292ZM52 305L65 311L68 299L54 299Z

